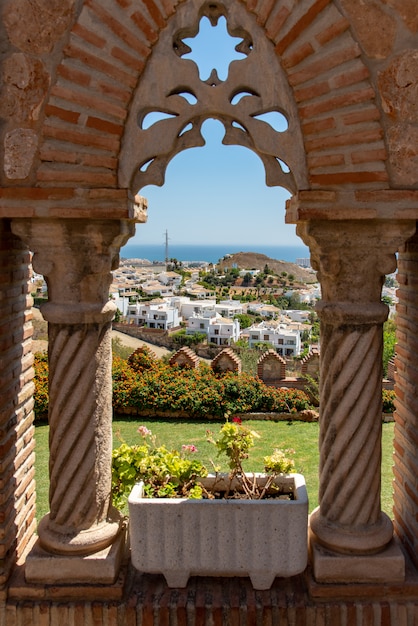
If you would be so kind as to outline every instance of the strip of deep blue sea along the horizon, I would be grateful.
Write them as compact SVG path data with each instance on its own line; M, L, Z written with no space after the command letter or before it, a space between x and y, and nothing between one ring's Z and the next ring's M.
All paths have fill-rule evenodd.
M211 244L211 245L169 245L168 258L178 261L207 261L217 263L225 254L237 252L258 252L271 259L294 263L299 258L309 258L309 248L306 246L263 246L249 244ZM147 259L148 261L164 261L165 246L163 244L127 244L121 249L121 258Z

